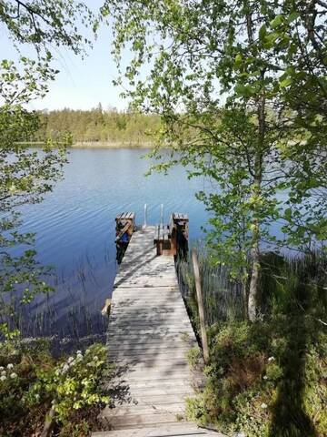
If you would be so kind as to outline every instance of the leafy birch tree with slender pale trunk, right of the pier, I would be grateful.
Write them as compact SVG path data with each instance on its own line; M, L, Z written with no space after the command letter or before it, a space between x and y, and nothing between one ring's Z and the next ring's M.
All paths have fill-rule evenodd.
M234 278L250 278L254 320L262 242L310 250L327 239L325 5L106 0L103 13L125 95L161 116L152 156L177 152L156 169L182 163L211 179L198 194L213 216L209 244Z

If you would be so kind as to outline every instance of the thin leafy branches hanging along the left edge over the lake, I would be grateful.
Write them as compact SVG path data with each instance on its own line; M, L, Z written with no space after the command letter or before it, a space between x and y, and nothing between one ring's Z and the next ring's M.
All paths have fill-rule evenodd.
M74 54L84 54L90 40L78 30L93 27L97 20L83 3L64 1L2 1L0 25L18 54L18 61L0 60L0 290L1 325L8 314L15 315L17 304L33 300L38 292L51 290L45 283L48 269L35 259L34 236L17 231L19 207L35 203L52 189L61 177L65 162L64 147L44 150L19 147L22 136L32 137L39 128L39 116L26 104L44 97L49 81L57 71L52 64L54 46L64 46ZM25 47L35 49L35 56L25 56ZM65 138L60 141L64 144ZM21 249L20 255L13 248ZM17 251L15 252L17 253ZM18 294L17 294L18 292Z

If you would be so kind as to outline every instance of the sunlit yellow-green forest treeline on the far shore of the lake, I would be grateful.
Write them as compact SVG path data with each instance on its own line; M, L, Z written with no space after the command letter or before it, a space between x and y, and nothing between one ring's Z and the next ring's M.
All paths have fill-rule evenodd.
M44 142L47 138L58 139L64 132L72 136L73 145L89 147L146 147L154 141L154 130L159 117L133 112L119 112L115 108L104 110L60 109L40 111L40 126L28 142ZM23 138L22 138L23 139Z

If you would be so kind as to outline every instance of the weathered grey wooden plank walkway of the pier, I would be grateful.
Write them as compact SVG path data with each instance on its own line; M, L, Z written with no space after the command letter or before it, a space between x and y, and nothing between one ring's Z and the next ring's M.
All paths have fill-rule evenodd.
M94 437L215 435L184 422L184 400L198 375L186 359L196 345L178 288L173 256L157 256L154 227L134 232L114 281L107 346L117 364L110 381L112 431Z

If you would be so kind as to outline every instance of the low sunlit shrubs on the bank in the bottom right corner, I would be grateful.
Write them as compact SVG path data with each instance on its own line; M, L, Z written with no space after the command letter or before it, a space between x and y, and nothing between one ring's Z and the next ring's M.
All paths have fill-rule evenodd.
M325 435L327 338L317 322L221 323L210 334L208 379L202 395L188 400L190 419L248 437Z

